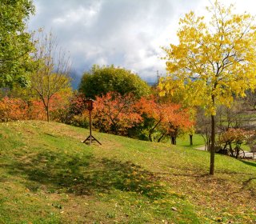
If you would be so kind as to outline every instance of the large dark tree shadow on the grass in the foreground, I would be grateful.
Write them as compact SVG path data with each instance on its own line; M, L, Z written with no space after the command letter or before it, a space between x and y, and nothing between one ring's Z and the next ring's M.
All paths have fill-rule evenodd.
M99 160L91 155L46 151L17 160L10 167L10 174L26 178L30 190L45 186L52 192L90 195L118 189L136 192L152 200L166 194L160 178L141 166L109 158Z

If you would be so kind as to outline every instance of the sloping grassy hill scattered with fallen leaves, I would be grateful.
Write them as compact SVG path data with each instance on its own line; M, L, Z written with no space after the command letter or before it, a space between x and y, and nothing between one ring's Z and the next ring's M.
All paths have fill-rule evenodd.
M0 124L0 223L256 223L256 163L54 122Z

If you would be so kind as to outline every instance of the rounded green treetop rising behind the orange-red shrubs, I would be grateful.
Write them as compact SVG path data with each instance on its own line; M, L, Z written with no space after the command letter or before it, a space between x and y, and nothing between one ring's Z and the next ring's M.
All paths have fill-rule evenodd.
M130 93L139 98L150 93L150 86L130 70L113 65L94 65L90 71L83 74L79 90L90 98L106 95L108 92L118 92L122 95Z

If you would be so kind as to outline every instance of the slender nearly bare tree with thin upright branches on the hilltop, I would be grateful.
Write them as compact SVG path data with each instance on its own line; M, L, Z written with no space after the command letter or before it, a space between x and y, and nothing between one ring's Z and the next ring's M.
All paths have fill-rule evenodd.
M31 77L31 87L46 110L47 121L50 121L50 99L54 94L70 86L70 56L58 46L57 38L50 32L40 31L36 41L34 60L37 68Z

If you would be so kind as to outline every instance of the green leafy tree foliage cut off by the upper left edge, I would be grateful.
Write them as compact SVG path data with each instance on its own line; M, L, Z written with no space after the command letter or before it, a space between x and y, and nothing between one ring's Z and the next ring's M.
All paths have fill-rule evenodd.
M34 13L30 0L0 1L0 88L28 84L33 43L26 20Z

